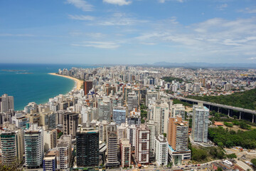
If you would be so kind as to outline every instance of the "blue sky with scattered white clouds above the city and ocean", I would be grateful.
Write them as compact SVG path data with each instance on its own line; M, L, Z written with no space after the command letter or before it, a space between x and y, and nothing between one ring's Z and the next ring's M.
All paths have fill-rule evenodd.
M255 0L1 0L0 63L255 63Z

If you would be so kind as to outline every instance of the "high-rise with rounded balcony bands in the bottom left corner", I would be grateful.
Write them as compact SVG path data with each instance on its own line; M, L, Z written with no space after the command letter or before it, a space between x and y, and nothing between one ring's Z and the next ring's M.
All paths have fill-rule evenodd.
M23 160L23 130L14 124L1 132L1 160L4 165L18 165Z

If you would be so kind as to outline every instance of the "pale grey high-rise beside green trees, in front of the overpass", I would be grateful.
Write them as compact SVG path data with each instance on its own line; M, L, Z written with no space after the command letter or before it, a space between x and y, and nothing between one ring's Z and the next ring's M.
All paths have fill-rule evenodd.
M209 109L202 103L193 105L192 139L195 142L208 142Z

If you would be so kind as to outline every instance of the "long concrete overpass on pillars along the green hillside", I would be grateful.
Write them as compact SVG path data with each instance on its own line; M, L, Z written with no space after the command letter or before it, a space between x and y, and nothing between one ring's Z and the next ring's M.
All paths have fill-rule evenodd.
M211 103L211 102L202 101L202 100L196 100L196 99L192 99L192 98L183 98L181 96L176 96L176 95L170 95L170 97L171 98L176 98L178 100L192 102L192 103L203 103L203 105L208 105L209 108L210 108L210 106L214 106L214 107L218 108L218 113L220 112L220 108L224 108L224 109L228 110L228 116L230 116L230 112L231 111L236 110L236 111L238 111L240 113L239 119L241 119L242 113L250 113L250 114L252 114L252 123L255 122L256 110L250 110L250 109L245 109L245 108L238 108L238 107L231 106L231 105L222 105L222 104L218 104L218 103Z

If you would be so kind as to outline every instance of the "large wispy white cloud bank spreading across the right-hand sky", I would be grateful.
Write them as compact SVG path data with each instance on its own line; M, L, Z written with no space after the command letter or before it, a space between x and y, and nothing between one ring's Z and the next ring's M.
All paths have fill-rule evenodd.
M181 49L180 53L174 53L188 60L195 56L203 61L206 58L222 60L221 58L227 57L233 59L232 62L255 58L255 17L235 20L215 18L188 26L177 23L178 21L159 21L154 30L142 32L134 38L134 42L157 43L159 46L169 47L170 51Z

